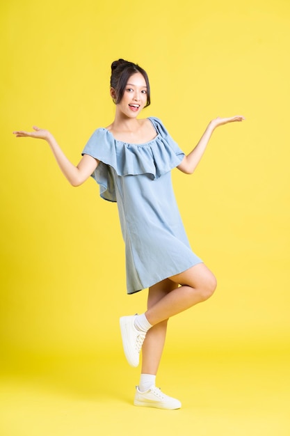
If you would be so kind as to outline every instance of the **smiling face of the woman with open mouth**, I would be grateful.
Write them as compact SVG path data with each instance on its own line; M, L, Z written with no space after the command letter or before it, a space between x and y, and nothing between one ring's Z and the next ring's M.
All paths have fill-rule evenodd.
M117 104L117 109L129 118L136 118L146 104L146 81L140 72L136 72L129 77L122 100Z

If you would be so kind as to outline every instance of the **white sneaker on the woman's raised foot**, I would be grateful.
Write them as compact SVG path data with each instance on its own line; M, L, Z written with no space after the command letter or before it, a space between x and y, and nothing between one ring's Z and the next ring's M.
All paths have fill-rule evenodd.
M138 366L140 350L146 336L145 332L139 332L136 329L134 325L135 317L136 315L122 316L120 318L124 353L131 366Z

